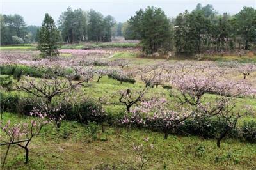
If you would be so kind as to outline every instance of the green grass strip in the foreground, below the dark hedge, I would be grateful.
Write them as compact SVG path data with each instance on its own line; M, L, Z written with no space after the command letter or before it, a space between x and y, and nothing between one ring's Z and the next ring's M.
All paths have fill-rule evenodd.
M25 121L26 117L4 113L4 120ZM256 144L241 143L226 139L221 148L216 141L198 137L170 135L148 130L128 130L107 127L104 134L98 132L97 141L92 141L86 126L63 121L61 128L47 125L45 135L35 137L29 145L29 163L24 164L24 151L11 147L6 169L91 169L99 164L136 167L140 158L132 150L133 143L146 144L149 138L154 149L147 152L152 159L145 169L255 169ZM1 146L1 156L6 147Z

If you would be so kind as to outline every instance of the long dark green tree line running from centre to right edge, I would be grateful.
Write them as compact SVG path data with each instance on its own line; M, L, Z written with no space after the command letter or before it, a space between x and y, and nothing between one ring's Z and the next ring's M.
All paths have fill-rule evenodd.
M197 4L195 10L169 19L161 8L148 6L124 26L125 39L141 40L147 54L159 49L182 54L250 50L256 45L256 10L249 7L236 15L220 15L212 5Z

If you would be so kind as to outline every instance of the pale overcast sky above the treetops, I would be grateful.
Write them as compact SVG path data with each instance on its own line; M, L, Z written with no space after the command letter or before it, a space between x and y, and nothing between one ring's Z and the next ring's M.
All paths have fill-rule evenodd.
M101 12L103 15L112 15L117 22L125 22L136 10L149 6L160 7L164 10L168 17L175 17L184 10L193 10L197 3L203 6L212 4L214 9L219 13L228 12L231 15L239 12L243 6L256 8L256 0L254 1L134 1L134 0L0 0L2 14L20 14L24 17L26 24L40 26L45 13L52 15L54 20L58 20L61 12L67 10L68 6L73 9L81 8L82 10L93 9Z

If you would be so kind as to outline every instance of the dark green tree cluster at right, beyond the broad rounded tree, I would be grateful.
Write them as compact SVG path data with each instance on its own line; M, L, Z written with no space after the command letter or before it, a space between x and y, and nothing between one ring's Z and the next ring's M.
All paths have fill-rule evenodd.
M205 8L206 7L206 8ZM192 12L180 13L175 20L177 52L205 50L249 50L256 43L256 10L244 7L236 15L218 15L212 6L200 4Z

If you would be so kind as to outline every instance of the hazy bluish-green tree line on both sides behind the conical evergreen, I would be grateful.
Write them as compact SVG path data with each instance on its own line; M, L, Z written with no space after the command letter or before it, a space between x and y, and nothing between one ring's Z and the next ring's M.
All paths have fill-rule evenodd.
M39 26L26 26L24 18L18 14L0 15L1 44L38 42ZM112 36L122 36L122 23L116 23L111 15L104 17L100 12L67 8L58 20L61 40L67 43L80 41L109 42Z

